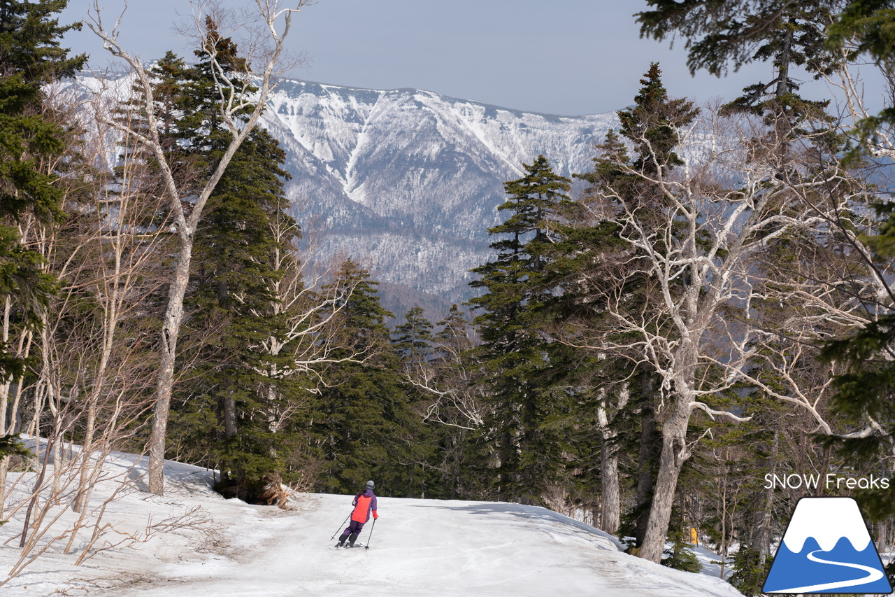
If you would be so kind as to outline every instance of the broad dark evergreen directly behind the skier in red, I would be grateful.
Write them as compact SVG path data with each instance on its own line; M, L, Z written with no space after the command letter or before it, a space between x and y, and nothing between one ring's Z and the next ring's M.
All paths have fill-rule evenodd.
M320 399L311 413L311 450L321 463L320 489L354 493L372 478L385 495L421 497L430 472L429 442L416 396L403 376L389 339L386 318L369 273L348 260L336 273L353 281L345 299L344 319L335 350L336 364L326 374ZM362 355L341 360L349 355Z

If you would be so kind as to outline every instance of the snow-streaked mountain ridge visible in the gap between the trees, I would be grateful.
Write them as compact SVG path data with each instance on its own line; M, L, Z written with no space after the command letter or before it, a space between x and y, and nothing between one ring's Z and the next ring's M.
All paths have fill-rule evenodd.
M409 290L387 300L396 309L420 295L445 309L469 298L503 183L540 154L563 176L587 171L593 145L618 126L615 113L564 117L303 81L280 82L268 107L262 125L287 152L295 214L305 229L326 229L315 258L353 256Z

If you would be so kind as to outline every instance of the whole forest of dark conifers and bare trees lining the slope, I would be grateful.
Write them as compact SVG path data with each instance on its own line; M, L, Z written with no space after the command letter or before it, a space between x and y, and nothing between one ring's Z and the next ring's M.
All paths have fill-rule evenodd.
M489 250L420 258L436 292L470 281L436 321L390 312L382 253L356 237L338 253L318 240L335 225L289 200L327 169L339 225L384 210L389 225L364 233L383 251L403 217L441 225L413 183L424 166L357 130L324 160L300 109L264 113L286 106L275 74L296 13L262 10L253 44L203 16L192 55L151 64L94 14L84 34L131 72L85 95L66 83L86 57L59 47L64 4L0 1L0 513L27 512L23 557L59 506L81 517L51 544L102 531L90 495L113 450L149 455L156 495L165 458L255 504L282 505L284 483L354 494L373 478L388 497L546 506L691 571L693 530L747 595L800 497L856 497L875 540L895 539L878 482L895 477L895 108L865 108L851 74L869 61L893 80L890 3L651 1L642 32L688 40L694 70L756 62L768 82L697 105L644 65L577 171L581 134L514 164L490 224L487 202L456 198L482 227L464 238ZM797 68L831 97L802 97ZM420 123L377 114L443 101L370 93L354 125L386 136ZM496 153L461 145L439 176L486 186L476 173ZM299 146L304 169L288 161ZM363 148L376 159L353 169ZM405 203L377 203L383 185ZM339 208L342 192L364 209ZM22 469L37 481L10 499Z

